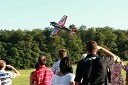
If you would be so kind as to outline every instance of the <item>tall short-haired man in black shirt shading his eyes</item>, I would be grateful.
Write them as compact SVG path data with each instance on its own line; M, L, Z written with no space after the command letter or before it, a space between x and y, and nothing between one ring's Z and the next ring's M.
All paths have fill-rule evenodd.
M98 56L98 50L107 56ZM77 64L75 85L108 85L107 67L116 60L120 62L120 58L98 46L95 41L86 44L86 53L86 58Z

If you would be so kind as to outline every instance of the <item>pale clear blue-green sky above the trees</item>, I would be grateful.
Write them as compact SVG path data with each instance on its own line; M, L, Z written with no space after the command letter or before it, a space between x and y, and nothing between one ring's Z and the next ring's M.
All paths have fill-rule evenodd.
M128 0L0 0L0 29L51 27L63 15L71 24L128 30Z

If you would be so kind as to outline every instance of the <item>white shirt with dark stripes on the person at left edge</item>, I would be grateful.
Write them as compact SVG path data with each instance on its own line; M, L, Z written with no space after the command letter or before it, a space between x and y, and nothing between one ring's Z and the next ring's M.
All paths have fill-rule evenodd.
M12 79L16 77L16 73L7 72L5 70L0 70L0 80L1 85L12 85Z

